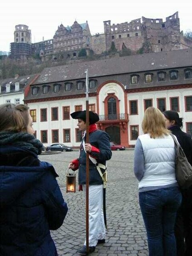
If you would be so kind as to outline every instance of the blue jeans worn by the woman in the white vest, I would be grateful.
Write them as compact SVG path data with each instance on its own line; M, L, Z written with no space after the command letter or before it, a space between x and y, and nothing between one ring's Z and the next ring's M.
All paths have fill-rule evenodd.
M182 195L178 187L139 193L149 256L176 256L174 224Z

